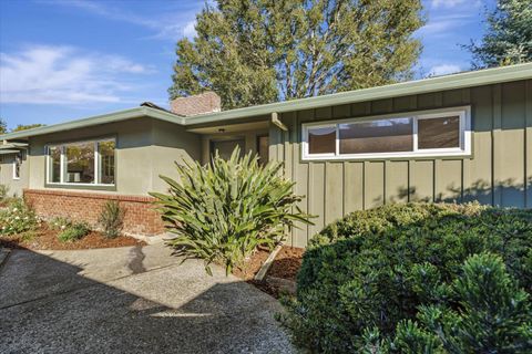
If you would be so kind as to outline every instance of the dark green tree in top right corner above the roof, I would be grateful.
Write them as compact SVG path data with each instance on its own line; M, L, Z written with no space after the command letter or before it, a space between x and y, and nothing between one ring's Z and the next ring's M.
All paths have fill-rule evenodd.
M479 45L467 45L473 67L492 67L532 61L532 4L530 0L499 0L487 14L488 31Z

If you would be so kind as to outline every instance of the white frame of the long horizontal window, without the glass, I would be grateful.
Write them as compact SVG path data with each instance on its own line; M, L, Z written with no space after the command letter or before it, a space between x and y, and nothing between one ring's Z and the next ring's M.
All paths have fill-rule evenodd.
M418 121L441 118L442 114L460 117L460 147L458 148L431 148L418 149ZM371 154L339 154L339 124L362 123L390 118L413 119L412 134L413 146L411 152L397 153L371 153ZM336 127L336 152L328 154L309 154L308 131L310 128ZM406 112L401 114L372 115L358 118L345 118L317 123L301 124L301 160L360 160L360 159L387 159L387 158L417 158L417 157L452 157L471 155L471 106L460 106L440 110Z

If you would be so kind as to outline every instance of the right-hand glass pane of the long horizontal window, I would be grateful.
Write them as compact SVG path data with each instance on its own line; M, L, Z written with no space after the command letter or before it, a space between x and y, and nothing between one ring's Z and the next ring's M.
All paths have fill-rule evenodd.
M460 147L460 117L418 121L418 148Z

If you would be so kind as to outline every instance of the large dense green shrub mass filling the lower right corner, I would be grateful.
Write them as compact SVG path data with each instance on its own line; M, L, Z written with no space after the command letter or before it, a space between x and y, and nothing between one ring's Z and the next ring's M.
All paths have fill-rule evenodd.
M532 214L471 205L356 211L310 242L280 316L320 353L532 350Z

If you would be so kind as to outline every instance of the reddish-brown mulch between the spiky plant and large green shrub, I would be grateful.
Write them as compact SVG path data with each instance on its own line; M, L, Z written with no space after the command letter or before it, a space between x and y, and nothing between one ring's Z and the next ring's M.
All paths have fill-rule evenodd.
M283 282L294 283L296 281L296 275L301 267L304 253L305 249L303 248L284 246L277 253L277 257L272 263L265 279L263 281L256 281L253 278L269 256L268 250L259 249L241 269L235 269L233 274L244 279L246 282L255 285L272 296L279 299L280 295L286 292L286 289L283 289Z

